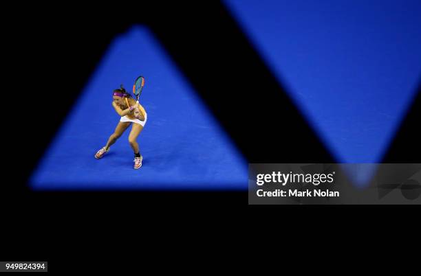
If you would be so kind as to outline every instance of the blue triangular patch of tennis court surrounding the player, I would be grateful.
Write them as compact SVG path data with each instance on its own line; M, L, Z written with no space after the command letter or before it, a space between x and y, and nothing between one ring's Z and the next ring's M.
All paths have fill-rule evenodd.
M138 137L143 165L133 170L131 127L105 157L94 154L120 119L112 91L120 84L131 91L140 74L148 121ZM34 189L246 189L247 166L153 34L135 26L109 45L30 182Z

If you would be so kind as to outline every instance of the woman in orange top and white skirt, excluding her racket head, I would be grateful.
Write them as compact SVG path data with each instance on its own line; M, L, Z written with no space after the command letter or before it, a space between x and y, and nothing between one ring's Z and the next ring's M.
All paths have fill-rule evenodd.
M144 108L136 102L136 100L127 93L126 89L120 86L120 89L113 91L113 107L116 113L121 116L116 130L109 137L107 144L98 150L95 154L96 159L102 158L107 152L109 147L116 143L117 139L125 132L125 130L132 124L129 134L129 143L135 154L134 168L138 169L142 166L142 155L139 152L139 145L136 139L142 131L144 124L146 124L148 116Z

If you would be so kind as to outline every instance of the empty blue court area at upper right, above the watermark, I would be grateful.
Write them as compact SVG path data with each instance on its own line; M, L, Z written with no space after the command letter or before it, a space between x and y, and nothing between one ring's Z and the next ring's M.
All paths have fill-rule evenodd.
M378 163L421 77L421 1L226 0L338 163Z

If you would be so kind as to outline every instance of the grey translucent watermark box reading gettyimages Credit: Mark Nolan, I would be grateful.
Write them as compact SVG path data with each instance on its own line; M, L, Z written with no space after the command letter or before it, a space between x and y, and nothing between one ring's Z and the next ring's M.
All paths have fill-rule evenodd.
M250 164L249 204L421 204L421 164Z

